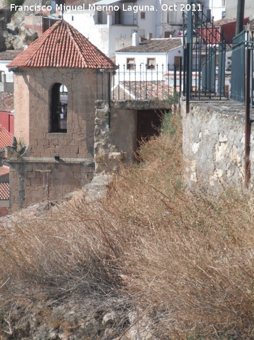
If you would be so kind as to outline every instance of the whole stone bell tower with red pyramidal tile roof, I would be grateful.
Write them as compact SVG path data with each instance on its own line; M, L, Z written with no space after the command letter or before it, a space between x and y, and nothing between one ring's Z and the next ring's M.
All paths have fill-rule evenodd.
M10 156L12 210L62 199L93 177L98 65L113 62L65 20L57 21L9 65L14 72Z

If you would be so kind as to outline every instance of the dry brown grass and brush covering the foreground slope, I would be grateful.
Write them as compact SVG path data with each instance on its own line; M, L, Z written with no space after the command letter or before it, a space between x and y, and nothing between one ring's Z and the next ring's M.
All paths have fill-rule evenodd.
M177 116L141 156L106 199L16 225L0 250L1 303L126 296L151 339L253 338L252 193L184 188Z

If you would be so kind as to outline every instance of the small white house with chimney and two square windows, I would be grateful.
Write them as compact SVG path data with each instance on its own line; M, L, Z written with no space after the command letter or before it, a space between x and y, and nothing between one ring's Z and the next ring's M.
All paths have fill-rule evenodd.
M133 45L117 50L115 83L118 81L162 81L165 73L179 65L182 57L180 38L149 39L139 43L133 34Z

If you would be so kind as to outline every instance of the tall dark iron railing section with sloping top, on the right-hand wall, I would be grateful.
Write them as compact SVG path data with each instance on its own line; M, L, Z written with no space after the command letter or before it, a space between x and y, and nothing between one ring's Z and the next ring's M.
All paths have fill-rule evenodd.
M223 32L204 14L203 5L188 0L193 11L183 13L183 94L190 99L225 96L225 58L229 44ZM197 7L195 10L195 6Z

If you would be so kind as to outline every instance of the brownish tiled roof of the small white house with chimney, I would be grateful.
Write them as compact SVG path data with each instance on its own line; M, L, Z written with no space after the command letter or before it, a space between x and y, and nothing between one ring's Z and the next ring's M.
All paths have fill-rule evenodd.
M138 46L124 47L116 52L167 53L177 47L182 47L180 38L149 39L141 42Z

